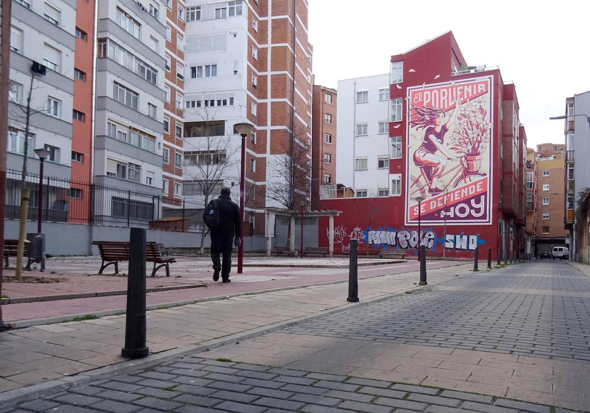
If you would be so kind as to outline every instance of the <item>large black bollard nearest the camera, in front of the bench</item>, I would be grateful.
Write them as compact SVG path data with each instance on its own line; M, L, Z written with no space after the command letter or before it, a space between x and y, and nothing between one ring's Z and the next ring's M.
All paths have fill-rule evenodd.
M127 322L123 357L146 357L146 230L131 228L127 276Z

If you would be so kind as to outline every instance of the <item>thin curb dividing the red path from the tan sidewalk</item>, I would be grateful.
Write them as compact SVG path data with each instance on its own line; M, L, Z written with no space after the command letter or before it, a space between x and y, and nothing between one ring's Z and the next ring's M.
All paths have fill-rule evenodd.
M463 265L465 265L465 264L453 264L450 266L437 267L437 268L433 268L433 269L437 270L438 268L449 268L449 267L463 266ZM417 270L402 271L401 273L397 273L397 274L406 274L406 273L411 273L412 271L417 271ZM365 276L365 277L358 277L358 279L359 280L367 280L369 278L377 278L377 277L384 277L384 276ZM188 304L203 303L206 301L223 300L223 299L239 297L239 296L247 296L247 295L250 296L250 295L255 295L255 294L272 293L274 291L297 290L297 289L303 289L306 287L327 286L330 284L341 284L341 283L348 283L348 279L334 280L334 281L319 281L317 283L298 284L296 286L275 287L272 289L244 291L241 293L224 294L221 296L203 297L201 299L168 301L166 303L150 304L150 305L146 306L146 310L160 310L160 309L166 309L169 307L186 306ZM126 312L127 312L127 309L125 307L122 307L119 309L99 310L99 311L91 312L91 313L67 314L67 315L63 315L63 316L40 317L37 319L25 319L25 320L5 320L5 323L11 324L13 329L24 329L26 327L39 326L41 324L54 324L54 323L69 322L69 321L73 321L77 317L84 317L89 314L92 316L96 316L96 317L105 317L105 316L116 316L119 314L124 314Z

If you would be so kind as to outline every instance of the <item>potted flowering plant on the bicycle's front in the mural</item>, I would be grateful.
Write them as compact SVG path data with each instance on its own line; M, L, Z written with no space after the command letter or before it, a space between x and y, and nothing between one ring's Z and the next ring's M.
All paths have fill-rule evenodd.
M463 154L467 172L481 169L481 158L489 146L491 122L487 119L486 100L483 97L461 105L451 136L452 149Z

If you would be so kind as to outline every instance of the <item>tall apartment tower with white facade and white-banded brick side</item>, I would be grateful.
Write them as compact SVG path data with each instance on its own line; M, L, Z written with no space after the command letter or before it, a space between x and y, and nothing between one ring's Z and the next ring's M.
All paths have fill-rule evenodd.
M310 201L312 47L307 2L188 0L185 9L184 195L240 182L246 140L245 233L263 233L266 207ZM304 171L288 179L284 166Z

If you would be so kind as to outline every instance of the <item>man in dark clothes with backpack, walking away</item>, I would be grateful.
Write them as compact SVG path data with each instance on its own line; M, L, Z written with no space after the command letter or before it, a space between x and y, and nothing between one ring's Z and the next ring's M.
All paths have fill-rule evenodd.
M215 205L219 214L219 225L211 230L211 260L213 261L213 281L221 279L224 283L231 283L231 250L232 243L238 247L241 244L242 222L240 208L230 198L230 188L222 188L221 195L215 199ZM219 262L219 254L223 261Z

